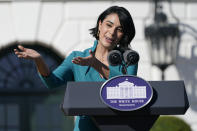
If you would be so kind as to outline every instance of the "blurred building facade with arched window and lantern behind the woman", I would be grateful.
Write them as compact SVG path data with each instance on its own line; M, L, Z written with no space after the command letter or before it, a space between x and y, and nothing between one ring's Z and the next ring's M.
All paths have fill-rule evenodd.
M13 49L22 44L38 50L53 70L71 51L93 45L89 29L112 5L125 7L133 17L138 76L184 80L190 108L176 117L197 130L196 0L1 0L0 131L73 129L73 117L59 108L65 89L46 89L34 63L18 59Z

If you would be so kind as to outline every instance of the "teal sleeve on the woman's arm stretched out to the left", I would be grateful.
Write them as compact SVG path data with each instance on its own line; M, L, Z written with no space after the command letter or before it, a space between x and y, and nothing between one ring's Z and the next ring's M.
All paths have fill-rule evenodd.
M49 89L60 87L63 84L66 84L67 81L73 81L73 63L72 59L74 53L71 53L60 66L58 66L51 74L47 77L42 76L39 73L39 76L45 86Z

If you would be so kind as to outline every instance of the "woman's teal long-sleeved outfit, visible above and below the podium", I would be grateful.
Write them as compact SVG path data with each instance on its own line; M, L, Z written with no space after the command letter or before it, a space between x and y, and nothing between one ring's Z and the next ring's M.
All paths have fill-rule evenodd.
M72 59L75 57L89 56L89 50L95 51L98 41L94 42L93 47L81 51L73 51L60 66L58 66L48 77L43 77L39 74L41 80L47 88L57 88L68 81L106 81L101 78L99 73L90 66L80 66L72 63ZM127 68L129 75L137 75L138 65L131 65ZM110 74L109 78L122 74L122 65L109 66ZM98 129L94 125L89 116L77 116L75 121L74 131L97 131Z

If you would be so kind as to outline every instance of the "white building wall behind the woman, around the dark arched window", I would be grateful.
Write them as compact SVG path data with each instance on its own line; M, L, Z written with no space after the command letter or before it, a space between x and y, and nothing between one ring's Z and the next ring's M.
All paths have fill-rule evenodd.
M73 50L92 46L94 39L88 30L95 26L98 15L112 5L126 7L133 17L136 36L131 46L140 54L138 76L145 80L161 80L161 71L151 65L147 41L144 38L145 18L149 18L151 14L148 0L3 0L0 1L0 47L5 48L15 41L40 41L67 56ZM170 15L168 7L169 4L164 3L165 13ZM193 131L197 131L196 9L196 0L172 1L174 15L181 22L182 35L176 64L165 71L166 80L185 82L190 108L185 115L178 117L189 123ZM4 107L5 105L0 103L0 111L4 110ZM5 110L9 112L10 107L13 105ZM1 118L0 126L4 122Z

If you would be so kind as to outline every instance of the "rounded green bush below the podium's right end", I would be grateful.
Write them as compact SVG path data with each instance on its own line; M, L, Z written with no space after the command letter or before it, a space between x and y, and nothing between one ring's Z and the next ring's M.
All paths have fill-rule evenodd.
M180 118L161 116L150 131L191 131L190 126Z

